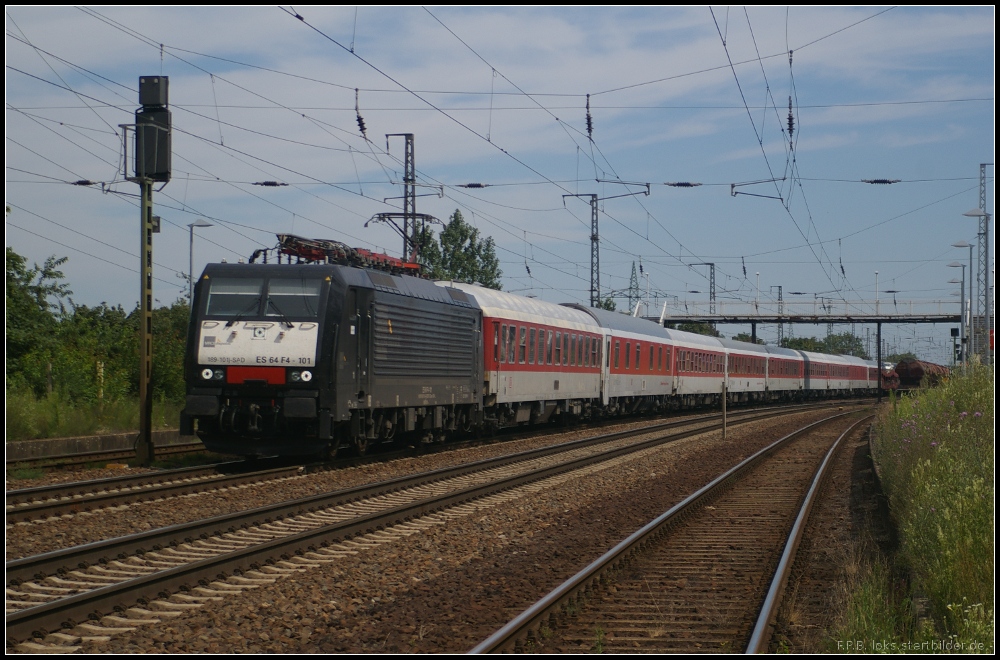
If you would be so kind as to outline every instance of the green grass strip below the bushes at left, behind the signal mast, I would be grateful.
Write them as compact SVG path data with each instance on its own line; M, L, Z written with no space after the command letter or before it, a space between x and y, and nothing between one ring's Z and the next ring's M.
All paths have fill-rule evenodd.
M153 428L176 428L182 408L180 403L154 401ZM74 402L58 393L36 399L31 393L7 390L7 442L127 432L138 428L139 403L136 400L107 401L98 405Z

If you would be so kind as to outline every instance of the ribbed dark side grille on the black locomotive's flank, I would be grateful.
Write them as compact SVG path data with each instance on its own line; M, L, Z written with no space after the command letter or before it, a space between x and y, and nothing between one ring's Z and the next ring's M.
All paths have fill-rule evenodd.
M462 308L433 312L384 298L375 303L374 372L379 376L472 376L474 319Z

